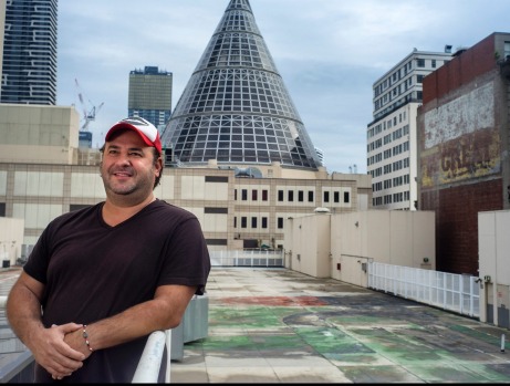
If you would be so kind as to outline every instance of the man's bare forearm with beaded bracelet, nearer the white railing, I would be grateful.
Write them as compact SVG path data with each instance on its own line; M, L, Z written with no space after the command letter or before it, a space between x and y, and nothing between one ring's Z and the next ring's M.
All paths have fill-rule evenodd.
M153 300L89 324L86 333L90 347L93 351L107 348L155 331L177 327L196 289L187 285L162 285L157 288ZM71 347L90 354L82 330L67 334L65 342Z

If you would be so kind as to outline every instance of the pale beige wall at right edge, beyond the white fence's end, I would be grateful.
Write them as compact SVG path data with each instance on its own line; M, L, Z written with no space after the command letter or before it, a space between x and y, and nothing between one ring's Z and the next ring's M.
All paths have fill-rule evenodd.
M510 210L478 213L480 321L509 327Z

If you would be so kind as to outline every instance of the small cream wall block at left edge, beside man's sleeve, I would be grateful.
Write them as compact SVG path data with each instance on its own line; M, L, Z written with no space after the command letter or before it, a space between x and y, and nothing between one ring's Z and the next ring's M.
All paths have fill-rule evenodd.
M9 261L9 265L14 265L21 258L23 236L23 219L0 217L0 264Z

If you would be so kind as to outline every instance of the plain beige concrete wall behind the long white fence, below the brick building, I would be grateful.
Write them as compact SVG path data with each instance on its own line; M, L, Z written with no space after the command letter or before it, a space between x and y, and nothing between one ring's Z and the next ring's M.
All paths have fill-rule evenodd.
M435 213L367 210L298 217L285 230L284 249L291 254L285 267L292 270L366 286L370 261L436 269Z

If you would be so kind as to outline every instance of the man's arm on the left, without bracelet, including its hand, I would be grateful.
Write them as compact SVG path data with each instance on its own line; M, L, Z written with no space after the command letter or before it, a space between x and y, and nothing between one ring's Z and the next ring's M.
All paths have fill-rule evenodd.
M81 328L67 323L45 328L41 321L41 295L44 284L21 272L9 292L7 317L14 334L32 352L34 359L54 377L65 376L83 366L85 355L71 348L66 333Z

